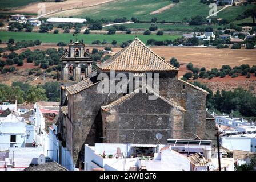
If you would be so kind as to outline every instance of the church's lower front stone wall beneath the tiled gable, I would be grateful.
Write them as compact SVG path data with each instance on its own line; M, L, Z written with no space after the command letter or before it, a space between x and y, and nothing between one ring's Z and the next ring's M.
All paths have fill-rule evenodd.
M110 111L102 110L103 134L106 143L156 144L155 134L161 133L162 144L169 138L182 137L183 111L148 94L135 94Z

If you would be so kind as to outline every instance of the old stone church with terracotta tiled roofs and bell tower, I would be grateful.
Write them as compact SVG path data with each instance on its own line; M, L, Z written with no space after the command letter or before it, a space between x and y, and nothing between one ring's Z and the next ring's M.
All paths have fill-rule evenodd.
M215 140L215 120L206 111L209 93L180 80L179 69L138 38L94 70L89 49L82 42L71 42L61 61L58 139L77 168L83 165L85 144L157 144L157 133L162 134L161 144L167 144L167 139ZM99 93L99 74L110 75L111 71L127 77L158 74L159 90L146 86L146 92L138 88ZM157 98L149 100L152 93Z

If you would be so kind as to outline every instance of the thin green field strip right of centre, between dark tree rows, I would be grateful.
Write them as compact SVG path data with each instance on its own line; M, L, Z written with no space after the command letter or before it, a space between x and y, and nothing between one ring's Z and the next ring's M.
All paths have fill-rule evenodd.
M149 29L151 23L133 23L133 24L124 24L124 26L132 29ZM158 30L163 30L163 31L194 31L195 28L206 28L209 26L190 26L186 24L162 24L162 23L157 23ZM225 26L218 26L214 25L211 26L214 29L217 29L219 27L223 28ZM105 29L108 29L110 27L105 27Z

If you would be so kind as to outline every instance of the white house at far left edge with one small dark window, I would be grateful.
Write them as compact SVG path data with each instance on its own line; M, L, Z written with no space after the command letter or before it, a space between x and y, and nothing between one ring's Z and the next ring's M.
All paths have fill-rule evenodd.
M10 147L25 147L25 144L25 119L13 113L0 118L0 150L8 150Z

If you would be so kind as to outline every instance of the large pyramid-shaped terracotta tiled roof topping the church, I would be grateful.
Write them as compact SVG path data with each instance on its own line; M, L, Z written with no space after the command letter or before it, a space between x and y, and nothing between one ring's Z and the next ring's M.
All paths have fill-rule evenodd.
M141 40L135 38L127 47L109 60L97 65L103 71L178 71L151 51Z

